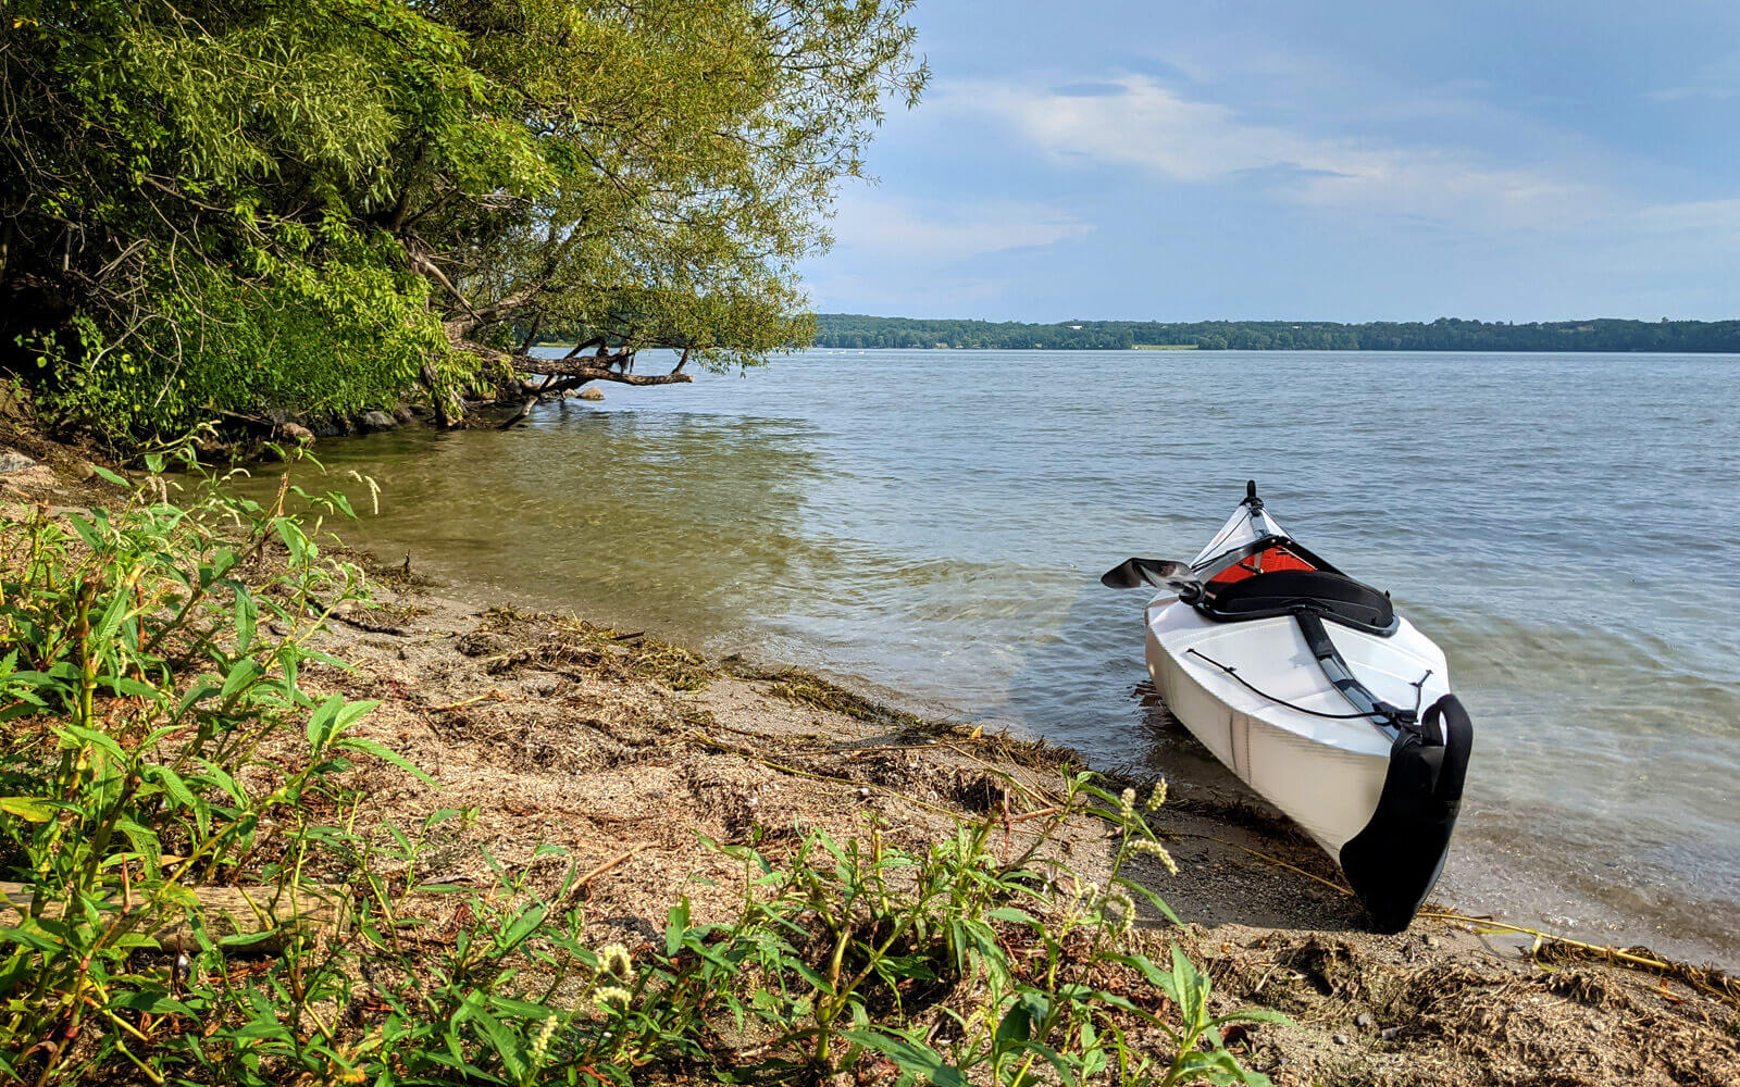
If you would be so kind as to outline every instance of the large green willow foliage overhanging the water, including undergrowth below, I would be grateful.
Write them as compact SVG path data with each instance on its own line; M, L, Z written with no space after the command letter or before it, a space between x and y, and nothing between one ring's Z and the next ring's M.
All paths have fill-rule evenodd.
M811 332L912 0L5 0L0 363L117 437Z

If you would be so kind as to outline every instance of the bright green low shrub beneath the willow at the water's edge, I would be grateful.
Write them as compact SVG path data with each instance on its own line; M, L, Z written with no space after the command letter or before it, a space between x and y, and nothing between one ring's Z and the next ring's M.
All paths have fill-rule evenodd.
M289 230L289 228L287 228ZM291 231L294 233L294 231ZM164 254L141 289L164 320L110 343L75 317L66 337L31 344L44 414L117 447L174 438L214 412L285 409L341 417L388 407L425 362L461 384L477 362L447 348L426 283L395 264L385 235L329 226L301 245L261 245L244 278Z

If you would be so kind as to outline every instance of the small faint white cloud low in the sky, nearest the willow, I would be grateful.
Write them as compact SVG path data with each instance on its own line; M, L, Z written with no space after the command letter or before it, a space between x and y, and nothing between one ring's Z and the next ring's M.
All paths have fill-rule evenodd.
M865 190L840 195L833 237L842 250L954 261L1011 249L1056 245L1088 235L1093 226L1046 203L1013 200L952 205Z

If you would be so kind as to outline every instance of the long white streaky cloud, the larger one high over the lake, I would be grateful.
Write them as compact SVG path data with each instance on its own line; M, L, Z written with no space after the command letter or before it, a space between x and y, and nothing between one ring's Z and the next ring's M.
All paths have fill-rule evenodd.
M1592 184L1533 167L1488 165L1439 148L1310 136L1190 101L1150 77L1122 94L1067 96L1000 82L954 82L933 108L1002 123L1060 163L1133 167L1162 181L1268 184L1307 205L1458 226L1571 228L1611 205Z

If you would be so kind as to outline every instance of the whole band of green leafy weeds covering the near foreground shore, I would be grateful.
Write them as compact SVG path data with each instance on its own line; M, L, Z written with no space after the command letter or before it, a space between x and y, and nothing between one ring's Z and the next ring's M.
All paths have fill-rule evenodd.
M372 819L355 762L419 770L355 732L372 703L308 689L345 666L311 637L365 595L320 543L348 506L150 461L124 506L40 510L0 550L0 877L28 899L0 913L0 1080L1265 1082L1220 1031L1274 1016L1213 1012L1131 936L1136 899L1171 918L1129 873L1171 866L1164 797L1093 774L1014 856L995 816L919 850L877 823L713 845L736 908L679 901L635 950L586 930L572 870L421 885L466 814ZM1103 882L1047 849L1072 819L1115 835Z

